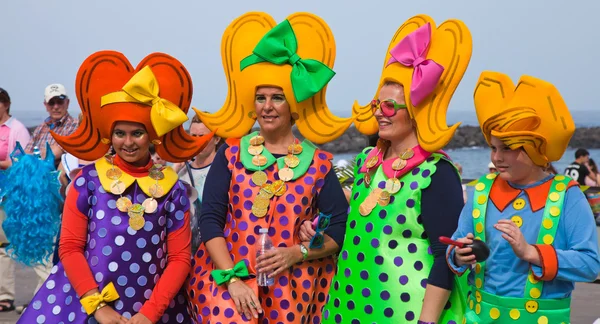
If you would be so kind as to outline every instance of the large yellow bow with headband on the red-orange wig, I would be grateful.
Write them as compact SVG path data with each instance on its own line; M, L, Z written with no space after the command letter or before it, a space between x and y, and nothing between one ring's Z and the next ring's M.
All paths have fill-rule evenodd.
M122 91L102 96L102 107L119 102L151 106L150 120L158 136L163 136L188 120L176 104L158 96L158 80L149 66L145 66L123 86Z

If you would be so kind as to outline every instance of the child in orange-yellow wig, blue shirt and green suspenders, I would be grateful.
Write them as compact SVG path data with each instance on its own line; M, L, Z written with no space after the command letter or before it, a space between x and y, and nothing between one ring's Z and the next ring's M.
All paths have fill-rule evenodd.
M471 248L448 248L457 274L471 269L466 323L570 323L575 282L600 271L585 195L545 171L569 145L571 114L552 84L531 76L515 88L508 76L483 72L474 99L498 173L479 179L453 235L486 242L489 258L476 263Z

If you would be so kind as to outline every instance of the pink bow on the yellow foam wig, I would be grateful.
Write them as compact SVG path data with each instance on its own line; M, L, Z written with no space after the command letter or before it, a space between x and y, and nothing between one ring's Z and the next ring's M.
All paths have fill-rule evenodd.
M431 24L427 23L404 39L391 51L392 57L387 65L398 62L404 66L413 67L413 78L410 85L410 100L417 106L430 95L437 86L444 67L431 59L425 59L431 42ZM386 65L386 66L387 66Z

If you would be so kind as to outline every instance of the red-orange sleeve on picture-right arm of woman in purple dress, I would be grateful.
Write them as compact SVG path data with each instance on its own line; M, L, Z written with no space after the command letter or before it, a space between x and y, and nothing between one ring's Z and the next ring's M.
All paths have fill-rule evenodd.
M160 320L190 273L192 268L191 239L192 231L190 230L190 213L188 211L185 213L183 226L167 236L167 267L154 286L150 299L140 309L140 313L144 314L152 323Z

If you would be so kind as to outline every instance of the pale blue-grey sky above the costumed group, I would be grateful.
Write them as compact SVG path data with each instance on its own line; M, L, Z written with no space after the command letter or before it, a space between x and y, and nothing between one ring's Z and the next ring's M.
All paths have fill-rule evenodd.
M584 118L585 111L596 109L600 65L594 62L600 43L593 32L600 1L4 0L1 8L0 87L10 93L11 113L26 126L47 117L43 93L50 83L67 87L73 99L69 111L77 116L75 76L85 58L99 50L122 52L133 66L152 52L176 57L192 76L192 105L217 111L227 94L221 36L248 11L267 12L278 22L307 11L328 23L336 40L337 74L327 102L340 117L351 115L354 100L372 98L391 37L421 13L437 25L463 20L473 37L471 63L449 108L454 119L475 117L472 94L483 70L515 81L523 74L550 81Z

